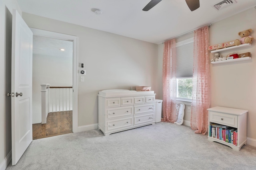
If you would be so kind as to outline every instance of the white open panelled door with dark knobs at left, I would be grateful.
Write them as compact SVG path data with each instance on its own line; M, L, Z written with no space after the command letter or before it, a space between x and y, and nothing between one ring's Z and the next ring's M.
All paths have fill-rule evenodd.
M33 33L16 10L12 12L12 165L32 142Z

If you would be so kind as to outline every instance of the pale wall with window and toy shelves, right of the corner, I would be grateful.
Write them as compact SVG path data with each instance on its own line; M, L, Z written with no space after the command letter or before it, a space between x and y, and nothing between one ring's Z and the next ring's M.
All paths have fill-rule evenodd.
M251 36L256 38L255 16L256 10L253 7L232 17L212 23L209 29L210 45L240 39L238 32L249 28L254 30ZM177 42L180 40L178 39ZM210 64L211 107L223 106L247 109L249 111L247 115L247 137L253 140L256 140L256 105L254 104L254 101L256 101L255 47L256 40L254 40L251 47L235 50L238 54L250 52L252 57L250 61ZM162 63L160 64L160 62L162 62L163 48L163 44L158 45L158 76L162 75ZM221 54L226 56L232 52L231 50ZM209 55L209 60L211 58L212 53ZM162 76L158 80L159 93L162 94ZM187 111L185 112L184 120L190 121L190 113L187 113Z

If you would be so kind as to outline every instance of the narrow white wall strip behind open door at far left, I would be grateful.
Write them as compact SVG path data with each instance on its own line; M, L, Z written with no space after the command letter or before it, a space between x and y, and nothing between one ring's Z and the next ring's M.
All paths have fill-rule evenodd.
M12 57L12 9L21 15L16 0L0 0L0 170L10 161L11 141L11 57ZM8 156L8 157L7 157Z

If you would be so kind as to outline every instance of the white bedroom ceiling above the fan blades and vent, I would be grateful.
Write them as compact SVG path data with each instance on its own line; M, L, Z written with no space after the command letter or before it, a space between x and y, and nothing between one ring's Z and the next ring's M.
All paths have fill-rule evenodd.
M256 6L256 0L236 0L217 11L212 5L221 0L200 0L200 8L191 12L185 0L162 0L145 12L142 9L150 0L17 1L26 13L156 44ZM102 14L96 15L93 8Z

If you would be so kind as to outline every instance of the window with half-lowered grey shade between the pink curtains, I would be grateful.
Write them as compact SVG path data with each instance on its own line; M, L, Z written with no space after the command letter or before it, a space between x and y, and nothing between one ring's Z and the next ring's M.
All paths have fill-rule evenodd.
M176 43L176 99L192 99L194 38Z

